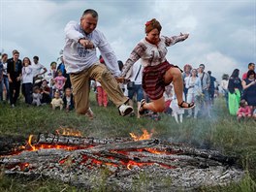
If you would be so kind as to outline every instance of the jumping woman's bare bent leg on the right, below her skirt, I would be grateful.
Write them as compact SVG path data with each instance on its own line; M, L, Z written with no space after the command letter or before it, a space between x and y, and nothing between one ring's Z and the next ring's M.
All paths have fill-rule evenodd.
M181 72L178 68L170 68L164 76L164 80L166 83L170 83L173 81L177 104L180 105L183 102L183 80L181 77ZM189 104L183 103L183 108L189 108Z

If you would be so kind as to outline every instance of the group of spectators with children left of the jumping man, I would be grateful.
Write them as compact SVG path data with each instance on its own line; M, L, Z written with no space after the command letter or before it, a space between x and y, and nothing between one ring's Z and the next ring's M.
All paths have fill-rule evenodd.
M20 90L27 106L42 106L50 104L55 110L63 108L73 110L74 99L69 75L63 68L63 60L58 67L56 62L50 64L50 70L39 63L39 57L19 59L18 50L13 50L13 57L8 58L7 53L2 54L0 62L0 100L16 107ZM65 77L63 76L65 74Z

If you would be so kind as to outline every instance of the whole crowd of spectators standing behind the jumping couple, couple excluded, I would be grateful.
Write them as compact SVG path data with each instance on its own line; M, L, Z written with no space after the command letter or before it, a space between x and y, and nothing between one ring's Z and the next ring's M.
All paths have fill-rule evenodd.
M28 57L23 60L18 58L19 52L13 51L13 57L8 58L8 54L3 53L0 64L0 100L8 101L12 108L16 107L16 100L19 97L19 90L24 98L24 103L33 106L50 105L52 110L65 109L70 112L75 109L75 99L73 87L69 75L63 64L63 57L60 56L60 63L50 63L48 70L39 63L39 57L34 56L33 62ZM100 56L99 62L105 65L104 59ZM122 61L118 60L120 70L123 68ZM232 115L237 118L256 119L256 77L255 64L248 64L248 71L240 79L240 70L235 69L229 77L223 74L219 82L211 76L211 72L205 72L205 65L200 64L198 68L193 68L185 64L181 74L183 81L182 99L187 103L194 103L195 108L184 111L179 108L176 100L174 84L171 82L165 86L163 93L165 107L163 112L173 115L177 123L183 121L185 117L197 118L199 115L211 116L211 108L214 99L222 93L226 100L226 107ZM150 98L143 87L144 66L136 62L131 70L127 81L118 83L124 96L129 98L129 104L137 109L131 112L130 116L140 118L141 101L150 101ZM64 76L63 76L64 74ZM132 85L128 85L132 82ZM94 90L98 106L107 108L109 105L109 95L97 80L91 80L90 89ZM136 105L135 105L136 104ZM146 116L151 116L159 120L158 112L147 110Z

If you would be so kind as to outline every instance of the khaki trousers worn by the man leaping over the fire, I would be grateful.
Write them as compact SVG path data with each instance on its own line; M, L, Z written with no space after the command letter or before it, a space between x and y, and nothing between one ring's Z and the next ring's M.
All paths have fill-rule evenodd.
M97 80L102 84L116 107L129 100L123 95L117 81L103 64L95 63L79 74L70 74L70 80L73 87L76 111L80 114L85 114L89 109L90 80Z

